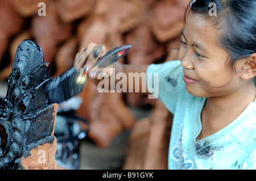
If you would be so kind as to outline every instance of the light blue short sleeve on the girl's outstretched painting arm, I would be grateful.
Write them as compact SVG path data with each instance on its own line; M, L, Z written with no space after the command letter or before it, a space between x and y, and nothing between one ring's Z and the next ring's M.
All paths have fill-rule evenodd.
M185 86L180 61L151 64L146 74L148 92L161 100L167 109L174 113L180 89Z

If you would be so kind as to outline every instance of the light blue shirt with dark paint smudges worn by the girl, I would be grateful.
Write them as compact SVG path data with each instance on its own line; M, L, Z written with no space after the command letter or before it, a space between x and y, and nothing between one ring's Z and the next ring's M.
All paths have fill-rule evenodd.
M153 87L159 88L158 99L174 114L168 169L256 169L255 101L227 127L197 140L206 98L185 89L180 61L152 64L148 73L152 73L153 83L154 73L159 73L159 85Z

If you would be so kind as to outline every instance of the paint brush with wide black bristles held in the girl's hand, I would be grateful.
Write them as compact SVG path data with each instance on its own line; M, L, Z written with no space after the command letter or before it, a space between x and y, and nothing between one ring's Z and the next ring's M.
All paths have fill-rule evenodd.
M120 60L130 50L131 45L121 45L107 52L99 58L92 69L106 68ZM89 79L90 70L75 68L74 66L65 71L63 75L57 78L49 79L47 83L47 92L49 102L61 103L82 92L86 82Z

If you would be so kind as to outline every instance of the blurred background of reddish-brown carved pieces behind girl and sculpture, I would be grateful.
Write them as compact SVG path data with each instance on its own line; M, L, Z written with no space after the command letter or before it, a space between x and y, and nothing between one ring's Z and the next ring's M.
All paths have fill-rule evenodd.
M24 39L40 45L51 77L69 69L76 53L90 42L105 44L108 50L130 44L123 64L178 60L189 2L0 0L1 98ZM89 81L81 95L59 110L56 159L63 168L167 169L172 115L158 100L137 93L100 94Z

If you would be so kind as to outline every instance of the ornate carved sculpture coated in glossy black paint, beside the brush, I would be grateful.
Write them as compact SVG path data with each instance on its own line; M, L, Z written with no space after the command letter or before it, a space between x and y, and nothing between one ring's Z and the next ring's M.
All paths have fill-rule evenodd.
M49 64L44 62L39 45L31 40L19 44L8 79L6 98L0 107L0 169L22 169L20 158L28 157L36 146L52 144L55 140L56 103L79 94L73 91L66 95L67 91L60 91L66 89L61 87L65 78L82 74L75 68L68 72L57 79L49 78ZM56 83L60 86L54 87ZM74 86L72 82L71 86ZM81 91L84 83L78 87ZM59 90L59 97L53 95L56 96L55 88ZM53 94L49 95L50 89Z

